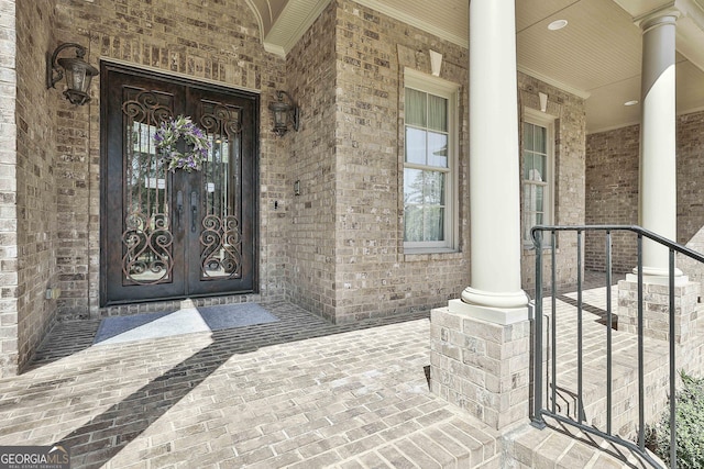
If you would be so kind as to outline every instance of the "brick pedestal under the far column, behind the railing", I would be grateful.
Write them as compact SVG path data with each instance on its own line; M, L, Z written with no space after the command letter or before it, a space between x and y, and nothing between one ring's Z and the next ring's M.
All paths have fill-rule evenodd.
M667 280L667 279L666 279ZM644 280L644 335L659 340L670 339L670 287ZM684 344L695 333L696 305L701 286L683 279L674 286L674 338ZM618 282L618 330L638 333L638 279L628 275Z

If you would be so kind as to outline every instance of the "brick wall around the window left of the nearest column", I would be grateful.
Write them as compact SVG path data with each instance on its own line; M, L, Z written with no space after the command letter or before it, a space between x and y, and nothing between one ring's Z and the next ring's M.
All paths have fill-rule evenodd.
M460 85L460 155L466 154L466 49L354 2L337 9L336 321L428 310L469 284L466 230L453 254L403 250L405 67ZM459 165L460 220L468 219L468 161Z

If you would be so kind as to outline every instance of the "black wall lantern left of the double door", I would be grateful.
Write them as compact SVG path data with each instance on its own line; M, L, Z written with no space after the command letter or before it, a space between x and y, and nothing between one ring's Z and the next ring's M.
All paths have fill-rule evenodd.
M76 57L57 58L58 53L65 48L74 47ZM90 101L88 89L90 80L98 75L98 69L84 60L86 47L76 43L64 43L56 47L54 54L46 55L46 89L55 88L55 85L66 75L68 88L64 96L72 104L82 105Z

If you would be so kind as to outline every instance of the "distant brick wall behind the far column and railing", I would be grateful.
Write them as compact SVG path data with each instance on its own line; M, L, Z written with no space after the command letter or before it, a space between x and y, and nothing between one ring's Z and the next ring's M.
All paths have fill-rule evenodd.
M638 224L639 125L587 137L586 213L590 224ZM676 119L678 243L704 252L704 112ZM613 267L628 272L637 264L636 238L615 235ZM587 239L585 265L604 270L603 238ZM702 281L704 267L679 258L678 267Z

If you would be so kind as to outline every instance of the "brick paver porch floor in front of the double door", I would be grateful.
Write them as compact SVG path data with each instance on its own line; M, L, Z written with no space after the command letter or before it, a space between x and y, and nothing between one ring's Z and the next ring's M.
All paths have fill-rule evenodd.
M502 467L498 435L428 390L427 314L265 306L280 321L117 345L91 346L99 321L59 324L0 380L0 445L63 443L74 468ZM548 436L556 460L584 451Z

